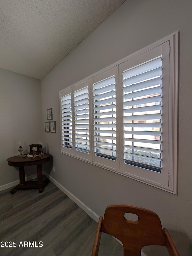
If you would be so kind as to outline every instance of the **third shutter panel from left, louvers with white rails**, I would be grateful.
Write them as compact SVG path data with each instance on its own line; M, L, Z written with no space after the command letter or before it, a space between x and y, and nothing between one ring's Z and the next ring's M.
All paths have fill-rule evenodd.
M116 141L118 67L91 79L93 104L93 161L114 170L119 169Z

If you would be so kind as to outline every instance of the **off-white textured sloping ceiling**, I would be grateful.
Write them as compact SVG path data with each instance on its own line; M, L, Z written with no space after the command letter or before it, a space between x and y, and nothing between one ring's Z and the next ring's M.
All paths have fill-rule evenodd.
M125 0L1 0L0 68L41 79Z

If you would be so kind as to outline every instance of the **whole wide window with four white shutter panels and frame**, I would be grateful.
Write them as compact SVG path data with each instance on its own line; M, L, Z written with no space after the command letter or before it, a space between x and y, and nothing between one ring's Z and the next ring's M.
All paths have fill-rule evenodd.
M176 193L178 32L60 92L61 152Z

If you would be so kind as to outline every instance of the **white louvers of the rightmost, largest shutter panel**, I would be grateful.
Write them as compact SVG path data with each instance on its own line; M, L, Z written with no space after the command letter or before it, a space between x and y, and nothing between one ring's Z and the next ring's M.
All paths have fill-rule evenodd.
M124 161L161 172L161 57L123 72Z

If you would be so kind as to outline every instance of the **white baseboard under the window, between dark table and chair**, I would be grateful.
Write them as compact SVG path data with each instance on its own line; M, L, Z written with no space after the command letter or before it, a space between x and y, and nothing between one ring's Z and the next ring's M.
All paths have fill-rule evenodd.
M49 176L44 172L44 175L57 186L65 195L67 195L73 202L75 202L83 211L85 211L93 220L97 223L99 221L99 215L97 215L94 211L92 211L88 206L86 206L82 201L80 201L76 196L74 196L71 192L69 192L66 188L64 188L60 183L58 183L55 179Z

